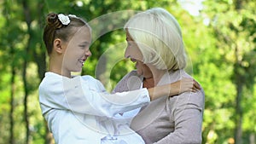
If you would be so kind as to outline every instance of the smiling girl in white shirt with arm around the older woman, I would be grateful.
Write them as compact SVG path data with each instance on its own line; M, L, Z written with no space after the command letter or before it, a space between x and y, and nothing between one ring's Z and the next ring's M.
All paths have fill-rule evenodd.
M91 55L90 26L74 15L48 14L46 20L49 72L39 86L39 102L56 143L144 143L125 122L117 127L113 116L143 107L160 96L199 89L195 81L192 84L191 79L184 79L183 89L177 81L109 95L95 78L71 76L71 72L82 70Z

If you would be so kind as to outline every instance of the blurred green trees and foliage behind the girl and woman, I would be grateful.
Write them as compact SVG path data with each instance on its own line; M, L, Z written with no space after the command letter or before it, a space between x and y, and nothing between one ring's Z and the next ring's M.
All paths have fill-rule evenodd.
M179 2L184 3L175 0L0 1L0 143L52 142L38 104L38 84L47 71L42 34L49 12L76 14L94 24L105 14L161 7L180 23L189 55L186 70L201 83L206 93L203 143L228 144L236 140L236 143L255 144L256 2L205 0L198 15L183 9L189 1ZM118 20L129 18L125 13L118 16ZM118 26L119 21L104 22L103 27L91 26L93 31L96 27L95 32L106 33L97 35L99 37L91 44L92 55L85 62L82 74L99 78L111 91L134 67L130 60L123 58L125 32ZM24 69L25 80L22 78ZM27 103L24 89L28 89ZM23 114L25 105L29 127ZM240 137L237 131L241 132Z

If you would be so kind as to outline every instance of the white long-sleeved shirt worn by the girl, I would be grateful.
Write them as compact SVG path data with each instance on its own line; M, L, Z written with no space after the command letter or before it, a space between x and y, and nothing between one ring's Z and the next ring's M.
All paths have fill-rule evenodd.
M109 95L90 76L66 78L46 72L39 86L39 102L55 142L60 144L144 143L117 113L143 107L147 89Z

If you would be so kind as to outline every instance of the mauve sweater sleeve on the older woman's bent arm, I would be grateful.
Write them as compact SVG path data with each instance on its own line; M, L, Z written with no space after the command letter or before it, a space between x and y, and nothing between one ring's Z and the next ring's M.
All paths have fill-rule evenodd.
M204 94L184 93L179 98L185 101L175 103L170 118L174 118L175 130L154 144L201 144L201 124L204 109ZM171 106L172 107L172 106Z

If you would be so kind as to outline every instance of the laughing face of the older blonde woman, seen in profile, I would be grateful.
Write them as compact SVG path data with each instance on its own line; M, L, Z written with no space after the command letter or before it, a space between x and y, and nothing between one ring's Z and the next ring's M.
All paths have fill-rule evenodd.
M153 78L153 74L149 67L143 63L143 54L137 46L137 43L131 38L129 32L126 30L127 48L125 49L125 57L130 58L131 61L136 62L137 74L143 75L143 78Z

